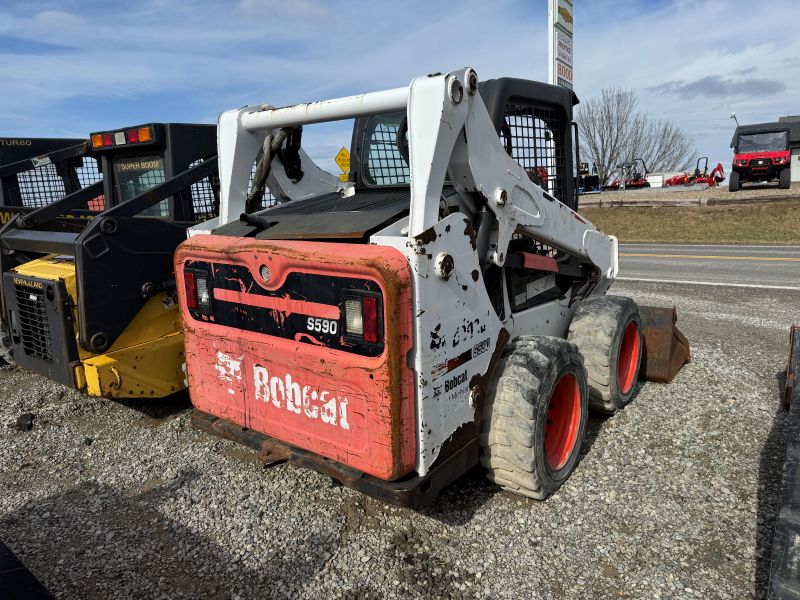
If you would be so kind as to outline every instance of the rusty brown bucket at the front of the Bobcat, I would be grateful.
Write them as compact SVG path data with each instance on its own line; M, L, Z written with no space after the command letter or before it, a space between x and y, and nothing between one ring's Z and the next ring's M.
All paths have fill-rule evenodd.
M644 352L639 377L669 383L689 362L689 341L675 326L675 307L639 306L644 337Z

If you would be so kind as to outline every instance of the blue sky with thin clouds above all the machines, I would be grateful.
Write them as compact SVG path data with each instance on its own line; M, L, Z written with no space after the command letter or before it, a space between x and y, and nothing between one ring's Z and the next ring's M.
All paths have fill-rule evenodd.
M147 121L407 84L472 66L547 77L545 0L0 0L0 136ZM727 166L742 123L800 114L800 2L578 0L575 88L635 88ZM313 131L312 131L313 129ZM327 166L347 126L309 128Z

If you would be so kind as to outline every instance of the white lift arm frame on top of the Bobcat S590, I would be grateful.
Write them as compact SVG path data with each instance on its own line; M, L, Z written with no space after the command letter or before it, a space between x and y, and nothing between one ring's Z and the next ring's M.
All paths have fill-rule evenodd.
M282 127L407 111L411 173L408 236L432 227L439 216L445 176L462 193L478 193L497 219L489 255L498 266L512 236L522 232L595 265L601 277L618 271L617 241L531 182L505 152L478 93L473 69L415 78L408 87L297 104L245 107L219 119L219 223L238 218L247 197L253 160L264 138ZM337 189L332 175L303 155L306 175L287 196L301 199ZM281 168L273 169L273 173ZM327 176L327 177L326 177ZM272 175L271 175L272 177Z

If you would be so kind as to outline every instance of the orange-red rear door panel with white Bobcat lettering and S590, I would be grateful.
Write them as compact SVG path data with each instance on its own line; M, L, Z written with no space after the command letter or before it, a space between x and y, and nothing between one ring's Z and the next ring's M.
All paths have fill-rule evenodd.
M381 479L412 470L411 273L399 251L198 235L175 272L198 410Z

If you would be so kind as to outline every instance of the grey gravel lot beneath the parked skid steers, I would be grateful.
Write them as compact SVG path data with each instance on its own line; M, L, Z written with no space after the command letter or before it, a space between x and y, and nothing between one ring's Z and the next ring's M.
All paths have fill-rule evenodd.
M63 598L747 598L768 574L798 294L619 284L694 360L593 417L544 503L471 473L421 513L189 425L0 372L0 539ZM18 417L33 413L33 428Z

